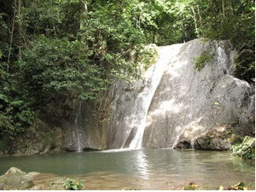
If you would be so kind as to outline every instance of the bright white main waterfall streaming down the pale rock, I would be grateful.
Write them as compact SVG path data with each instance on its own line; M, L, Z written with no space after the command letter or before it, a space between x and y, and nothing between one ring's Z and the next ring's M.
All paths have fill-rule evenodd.
M155 90L160 84L160 79L166 71L171 59L179 52L182 44L174 44L159 48L160 58L157 63L148 68L144 75L144 82L146 82L144 89L137 96L134 112L132 113L133 119L131 120L131 129L137 129L135 137L131 140L129 148L142 148L143 147L143 134L146 127L148 108L154 96Z

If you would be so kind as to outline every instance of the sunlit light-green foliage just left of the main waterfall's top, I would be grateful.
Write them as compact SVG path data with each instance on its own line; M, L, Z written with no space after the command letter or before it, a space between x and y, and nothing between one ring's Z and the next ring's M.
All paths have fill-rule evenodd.
M136 63L131 62L130 55L137 44L145 41L142 30L127 20L119 3L102 3L93 9L79 31L81 40L92 51L90 60L104 69L107 79L131 80Z

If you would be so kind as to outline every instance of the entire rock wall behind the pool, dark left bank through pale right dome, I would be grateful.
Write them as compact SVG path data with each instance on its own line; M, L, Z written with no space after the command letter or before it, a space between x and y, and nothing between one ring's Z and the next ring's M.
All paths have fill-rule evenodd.
M195 58L203 51L212 60L197 71ZM160 47L159 53L141 79L117 81L100 101L74 102L70 114L52 106L61 110L58 115L42 115L13 152L128 148L137 136L144 148L222 150L234 135L254 135L254 87L233 76L236 51L228 41L195 39ZM0 154L9 153L1 145Z

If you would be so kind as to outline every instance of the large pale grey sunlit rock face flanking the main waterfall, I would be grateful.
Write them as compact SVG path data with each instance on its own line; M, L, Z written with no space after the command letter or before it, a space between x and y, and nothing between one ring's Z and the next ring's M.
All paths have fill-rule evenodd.
M194 58L206 49L212 49L214 59L197 72ZM254 88L232 76L235 55L227 41L209 44L195 39L166 46L160 52L160 60L165 58L164 72L150 73L151 77L160 75L154 96L146 93L148 97L142 97L144 90L154 84L150 75L132 84L114 84L110 116L104 125L108 148L129 148L139 129L143 129L144 148L191 148L196 139L199 141L207 131L218 128L223 133L229 129L230 133L252 135ZM144 108L146 102L149 104ZM137 122L143 119L141 116L145 117L144 126ZM218 141L205 149L229 148L228 137Z

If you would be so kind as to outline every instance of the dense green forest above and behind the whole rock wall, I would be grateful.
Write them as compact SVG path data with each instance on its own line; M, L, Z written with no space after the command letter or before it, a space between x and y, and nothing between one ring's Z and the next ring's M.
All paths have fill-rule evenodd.
M253 0L2 0L0 137L26 130L56 96L95 99L131 79L143 44L194 38L236 46L236 76L254 82ZM138 59L138 58L137 58Z

